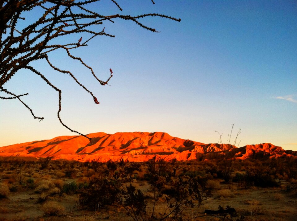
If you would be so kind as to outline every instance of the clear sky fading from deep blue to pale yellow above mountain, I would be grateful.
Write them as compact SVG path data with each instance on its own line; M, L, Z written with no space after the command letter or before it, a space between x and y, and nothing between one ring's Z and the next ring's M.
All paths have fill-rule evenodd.
M100 101L70 76L44 61L32 65L62 90L62 121L83 134L155 132L202 143L223 143L234 124L236 146L272 143L297 151L297 2L296 1L118 1L92 8L104 15L160 13L181 18L143 18L156 28L131 21L102 25L115 38L99 36L71 51L105 80L54 51L49 59L71 71ZM26 21L34 20L34 13ZM86 35L73 35L76 41ZM58 93L39 76L21 70L4 85L23 100L0 100L0 146L76 135L57 118ZM240 141L240 143L239 143Z

